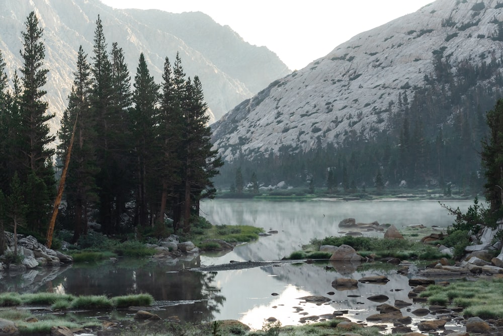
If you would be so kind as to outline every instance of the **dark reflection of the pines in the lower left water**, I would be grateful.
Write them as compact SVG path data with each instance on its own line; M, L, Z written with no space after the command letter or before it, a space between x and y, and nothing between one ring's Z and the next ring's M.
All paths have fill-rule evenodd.
M3 291L57 291L73 295L107 295L149 293L156 301L167 301L164 317L178 316L182 321L211 321L220 311L225 297L214 284L216 272L192 272L200 259L163 265L151 260L122 259L118 262L74 265L51 282L30 282L22 286L22 275L2 279ZM181 270L181 271L177 271ZM187 270L187 271L186 271ZM6 281L4 281L6 280ZM52 284L52 288L47 288ZM181 301L181 302L171 302ZM161 316L162 317L162 316Z

